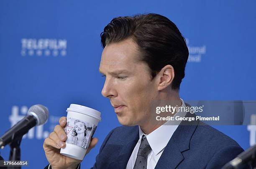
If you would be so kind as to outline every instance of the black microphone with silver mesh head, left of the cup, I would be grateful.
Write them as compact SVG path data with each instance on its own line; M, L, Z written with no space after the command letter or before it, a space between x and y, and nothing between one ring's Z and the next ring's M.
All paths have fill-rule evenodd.
M44 124L48 117L49 111L46 107L41 104L33 105L28 109L26 117L21 119L0 137L0 147L3 149L6 144L21 139L32 127Z

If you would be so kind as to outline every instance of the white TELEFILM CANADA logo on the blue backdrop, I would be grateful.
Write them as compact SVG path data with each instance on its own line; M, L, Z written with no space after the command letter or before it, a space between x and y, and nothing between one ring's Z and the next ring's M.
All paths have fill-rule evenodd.
M21 56L66 56L66 39L21 39Z

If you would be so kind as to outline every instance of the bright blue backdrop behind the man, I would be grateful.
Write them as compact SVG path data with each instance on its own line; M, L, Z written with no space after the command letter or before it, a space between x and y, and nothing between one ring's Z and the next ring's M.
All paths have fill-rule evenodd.
M43 168L44 138L69 104L92 107L102 113L95 132L99 143L82 162L92 167L105 136L120 125L101 95L100 32L113 17L137 13L164 15L186 37L184 100L256 100L255 6L254 0L0 1L0 135L33 104L48 107L48 122L21 144L21 159L30 162L24 168ZM215 127L244 149L255 143L255 126ZM9 151L5 147L1 155L8 159Z

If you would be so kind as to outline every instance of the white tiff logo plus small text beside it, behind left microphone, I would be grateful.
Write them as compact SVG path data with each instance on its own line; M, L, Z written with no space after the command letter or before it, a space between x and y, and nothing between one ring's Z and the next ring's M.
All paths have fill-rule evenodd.
M21 106L20 107L20 114L19 114L19 107L18 106L13 106L12 107L12 112L11 115L9 116L9 121L11 124L11 127L15 125L18 121L23 119L23 117L26 116L28 113L28 107L27 106ZM44 125L36 126L31 128L27 134L23 136L24 138L27 139L45 139L46 137L49 136L49 133L54 130L54 127L56 124L59 123L59 118L58 116L50 116L48 121L50 121L50 127L49 131L44 131Z

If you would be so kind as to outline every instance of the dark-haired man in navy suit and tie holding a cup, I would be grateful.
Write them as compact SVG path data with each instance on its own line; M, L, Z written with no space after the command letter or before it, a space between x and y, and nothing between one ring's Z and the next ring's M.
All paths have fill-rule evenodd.
M202 122L156 120L152 105L188 106L179 87L189 52L172 21L158 14L114 18L101 42L102 95L110 99L123 126L105 138L94 169L218 169L243 152L233 139ZM195 116L181 111L168 115ZM59 154L67 139L65 124L62 117L45 139L46 168L80 167L81 161ZM93 138L87 153L95 144Z

